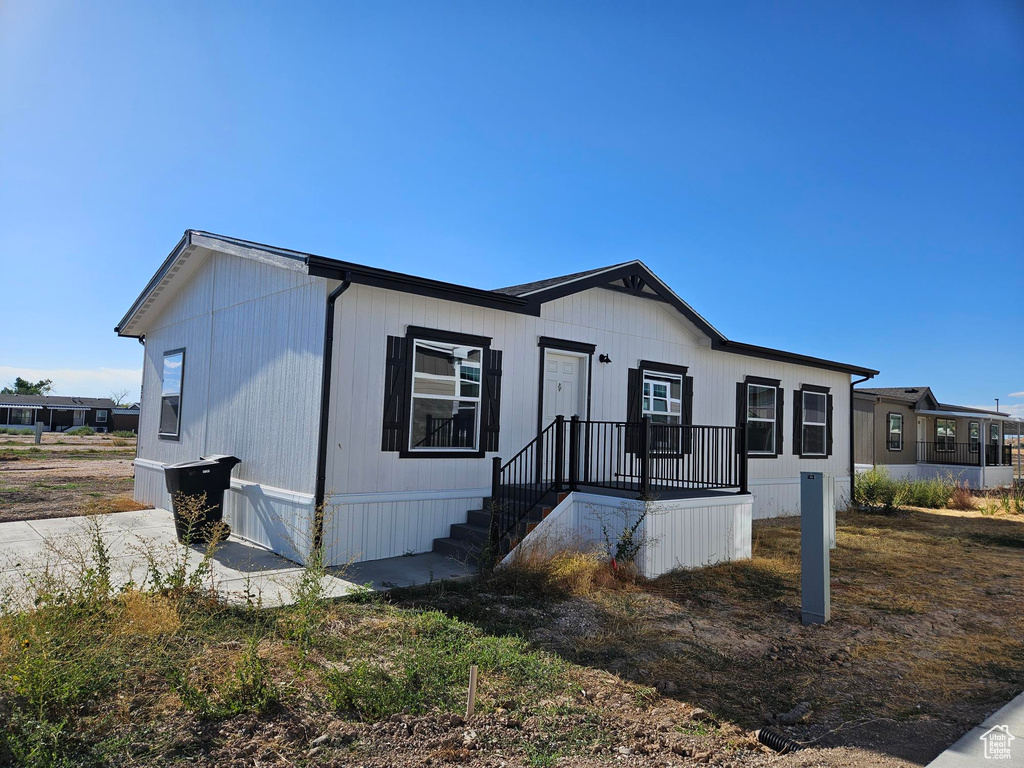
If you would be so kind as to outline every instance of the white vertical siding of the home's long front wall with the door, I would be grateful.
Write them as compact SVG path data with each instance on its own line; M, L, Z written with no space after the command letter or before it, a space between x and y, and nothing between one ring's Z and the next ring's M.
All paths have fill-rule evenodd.
M331 562L429 550L449 526L489 495L487 459L401 459L381 447L386 339L409 326L487 336L503 352L500 451L515 455L537 434L540 337L596 346L590 418L624 421L627 371L639 360L686 366L693 377L693 423L735 424L736 382L746 376L781 380L785 390L783 453L750 462L753 517L796 514L800 472L831 473L842 503L849 494L848 374L714 351L702 334L668 304L591 289L543 305L541 316L503 312L351 286L338 299L328 435L330 509L325 544ZM597 355L607 354L610 364ZM833 455L793 455L794 390L829 387Z

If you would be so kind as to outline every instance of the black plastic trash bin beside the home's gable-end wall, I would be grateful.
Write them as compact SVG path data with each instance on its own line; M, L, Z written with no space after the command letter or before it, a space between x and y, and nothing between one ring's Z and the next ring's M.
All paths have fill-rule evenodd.
M224 518L224 492L231 485L231 470L242 460L234 456L204 456L197 462L183 462L164 467L164 481L171 495L174 512L174 530L178 541L183 541L189 532L194 543L208 543L218 527L221 537L227 538L230 528L217 526ZM189 521L180 508L181 497L196 497L206 494L204 516L201 520Z

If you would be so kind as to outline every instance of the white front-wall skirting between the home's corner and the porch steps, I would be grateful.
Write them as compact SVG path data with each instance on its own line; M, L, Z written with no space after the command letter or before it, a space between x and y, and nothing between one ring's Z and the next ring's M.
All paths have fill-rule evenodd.
M483 506L485 488L330 497L324 516L329 565L429 552L434 539Z

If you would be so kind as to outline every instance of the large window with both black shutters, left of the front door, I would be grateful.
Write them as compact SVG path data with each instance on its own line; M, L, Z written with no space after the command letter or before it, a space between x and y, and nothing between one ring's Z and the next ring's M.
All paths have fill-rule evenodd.
M388 337L381 450L426 459L497 451L501 358L482 336L410 327Z

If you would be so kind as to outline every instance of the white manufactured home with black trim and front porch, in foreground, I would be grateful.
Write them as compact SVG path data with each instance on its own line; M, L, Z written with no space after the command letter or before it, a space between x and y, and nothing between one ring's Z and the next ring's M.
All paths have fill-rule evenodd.
M640 261L481 290L195 230L116 330L144 343L135 498L234 455L232 531L331 563L638 498L667 510L659 569L749 556L802 471L848 497L851 379L877 374L727 339Z

